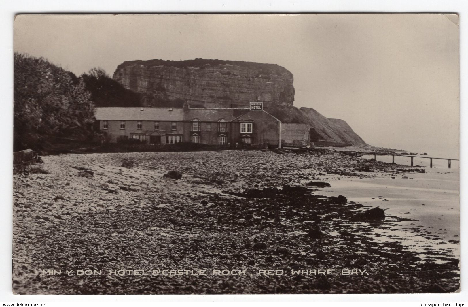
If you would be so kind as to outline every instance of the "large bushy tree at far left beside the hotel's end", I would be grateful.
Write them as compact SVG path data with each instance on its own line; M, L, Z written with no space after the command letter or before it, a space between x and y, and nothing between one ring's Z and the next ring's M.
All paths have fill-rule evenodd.
M44 58L14 54L14 147L91 133L94 105L82 78Z

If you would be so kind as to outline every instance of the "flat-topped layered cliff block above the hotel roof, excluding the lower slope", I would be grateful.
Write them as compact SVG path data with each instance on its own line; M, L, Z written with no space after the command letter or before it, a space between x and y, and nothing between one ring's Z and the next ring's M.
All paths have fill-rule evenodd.
M134 60L120 64L113 79L143 95L146 106L182 104L207 108L250 101L294 101L293 76L284 67L226 60Z

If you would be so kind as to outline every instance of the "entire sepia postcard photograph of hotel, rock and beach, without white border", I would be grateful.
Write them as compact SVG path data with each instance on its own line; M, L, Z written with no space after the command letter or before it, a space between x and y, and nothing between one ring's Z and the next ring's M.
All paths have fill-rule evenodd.
M460 292L459 15L13 35L13 293Z

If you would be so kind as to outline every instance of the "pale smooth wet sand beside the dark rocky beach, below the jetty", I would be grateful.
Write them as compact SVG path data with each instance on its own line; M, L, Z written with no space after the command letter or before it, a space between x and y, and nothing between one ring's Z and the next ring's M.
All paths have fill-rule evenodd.
M426 173L396 175L394 179L390 175L373 179L341 177L330 180L331 187L320 189L320 193L346 195L349 201L379 206L388 216L406 217L410 220L395 223L395 240L415 251L431 250L459 257L459 169L425 170Z

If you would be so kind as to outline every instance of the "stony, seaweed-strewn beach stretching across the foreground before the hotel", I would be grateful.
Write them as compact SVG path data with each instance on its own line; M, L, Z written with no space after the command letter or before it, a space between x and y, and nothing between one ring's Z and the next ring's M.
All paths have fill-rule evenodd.
M366 207L351 191L335 187L346 180L416 177L425 170L288 151L67 154L46 156L39 167L49 173L14 175L14 289L21 294L381 293L389 282L386 293L459 287L453 253L459 245L438 245L435 234L427 233L432 229L420 233L437 240L421 240L415 229L402 228L411 216L388 208L384 220L366 220L363 213L375 205ZM170 170L182 179L163 178ZM305 186L310 181L331 187ZM273 287L256 275L221 284L218 277L119 278L112 289L104 286L108 277L81 284L35 278L35 269L56 268L59 258L69 259L68 268L96 270L156 263L208 271L359 268L369 275L283 276ZM408 283L412 277L417 283ZM44 282L53 288L44 290Z

